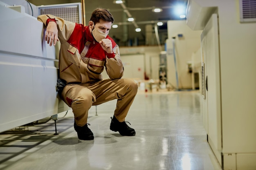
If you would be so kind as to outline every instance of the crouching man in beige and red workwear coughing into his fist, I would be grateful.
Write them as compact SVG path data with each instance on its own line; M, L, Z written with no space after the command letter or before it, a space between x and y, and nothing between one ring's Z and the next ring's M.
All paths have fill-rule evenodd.
M119 46L108 36L114 18L106 9L92 12L89 25L65 21L53 15L40 15L38 20L45 24L45 40L52 46L61 42L59 77L65 82L61 92L63 101L74 113L74 129L81 140L93 140L88 128L88 110L117 99L117 106L110 130L124 136L134 136L125 117L137 94L138 86L130 79L121 79L124 67ZM102 79L106 68L109 79Z

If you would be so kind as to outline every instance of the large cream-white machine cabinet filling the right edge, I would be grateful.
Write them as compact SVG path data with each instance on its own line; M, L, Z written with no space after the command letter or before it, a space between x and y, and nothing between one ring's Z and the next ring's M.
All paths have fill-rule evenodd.
M201 34L207 139L223 170L256 170L256 1L189 0Z

